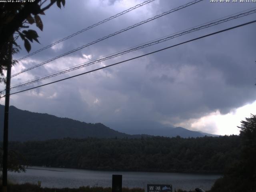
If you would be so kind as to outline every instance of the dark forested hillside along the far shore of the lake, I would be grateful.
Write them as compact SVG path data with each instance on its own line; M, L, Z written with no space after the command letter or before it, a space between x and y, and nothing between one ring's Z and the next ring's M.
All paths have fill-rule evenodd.
M140 139L64 138L10 142L28 165L157 172L223 172L240 152L238 136Z

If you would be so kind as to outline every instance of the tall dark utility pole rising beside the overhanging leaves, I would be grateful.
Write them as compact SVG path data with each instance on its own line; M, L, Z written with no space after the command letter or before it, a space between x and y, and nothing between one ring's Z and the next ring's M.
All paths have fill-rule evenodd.
M6 74L6 90L4 104L4 142L3 142L3 170L2 170L2 185L3 192L7 192L7 159L8 159L8 121L9 121L9 103L10 103L10 84L11 84L11 69L12 69L12 40L8 44L8 66Z

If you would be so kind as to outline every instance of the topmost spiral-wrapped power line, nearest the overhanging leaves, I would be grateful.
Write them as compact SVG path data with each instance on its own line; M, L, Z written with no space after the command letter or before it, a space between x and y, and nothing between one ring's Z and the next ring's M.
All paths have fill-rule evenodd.
M50 44L50 45L48 45L48 46L45 46L45 47L43 47L43 48L41 48L41 49L39 49L39 50L37 50L37 51L35 51L35 52L32 52L32 53L30 53L30 54L28 54L28 55L26 55L26 56L24 56L24 57L18 59L17 61L20 61L20 60L22 60L22 59L24 59L24 58L30 57L30 56L32 56L32 55L34 55L34 54L37 54L37 53L39 53L39 52L41 52L41 51L43 51L43 50L46 50L46 49L48 49L48 48L50 48L50 47L52 47L52 46L54 46L54 45L56 45L56 44L58 44L58 43L60 43L60 42L62 42L62 41L65 41L65 40L67 40L67 39L69 39L69 38L72 38L72 37L74 37L74 36L76 36L76 35L78 35L78 34L80 34L80 33L82 33L82 32L85 32L85 31L87 31L87 30L89 30L89 29L91 29L91 28L94 28L94 27L96 27L96 26L98 26L98 25L100 25L100 24L103 24L103 23L105 23L105 22L107 22L107 21L109 21L109 20L112 20L112 19L114 19L114 18L117 18L117 17L119 17L119 16L121 16L121 15L124 15L124 14L126 14L126 13L128 13L128 12L130 12L130 11L136 9L136 8L139 8L139 7L141 7L141 6L144 6L144 5L146 5L146 4L148 4L148 3L152 2L152 1L154 1L154 0L147 0L147 1L143 2L143 3L141 3L141 4L138 4L138 5L136 5L136 6L134 6L134 7L131 7L131 8L129 8L129 9L127 9L127 10L124 10L124 11L122 11L122 12L120 12L120 13L114 15L114 16L111 16L111 17L109 17L109 18L107 18L107 19L104 19L104 20L102 20L102 21L100 21L100 22L98 22L98 23L95 23L95 24L93 24L93 25L91 25L91 26L89 26L89 27L86 27L86 28L84 28L84 29L82 29L82 30L80 30L80 31L78 31L78 32L76 32L76 33L73 33L73 34L71 34L70 36L64 37L63 39L60 39L60 40L58 40L58 41L56 41L56 42L54 42L54 43L52 43L52 44Z

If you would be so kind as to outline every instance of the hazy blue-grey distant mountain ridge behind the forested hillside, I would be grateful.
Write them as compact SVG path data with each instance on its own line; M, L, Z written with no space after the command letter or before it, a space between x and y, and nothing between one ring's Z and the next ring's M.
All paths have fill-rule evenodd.
M0 140L3 138L4 106L0 105ZM159 131L158 131L159 132ZM155 135L155 134L152 134ZM206 134L185 128L173 128L169 134L160 136L202 137ZM70 118L60 118L50 114L42 114L20 110L10 106L9 140L48 140L60 138L140 138L150 137L149 134L126 134L113 130L101 123L86 123Z

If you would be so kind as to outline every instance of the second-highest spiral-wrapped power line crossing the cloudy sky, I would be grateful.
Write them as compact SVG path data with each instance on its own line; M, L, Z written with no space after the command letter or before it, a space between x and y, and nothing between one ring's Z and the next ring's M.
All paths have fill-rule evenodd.
M164 16L164 15L167 15L167 14L170 14L170 13L175 12L175 11L177 11L177 10L186 8L186 7L190 6L190 5L196 4L196 3L201 2L201 1L203 1L203 0L194 0L194 1L192 1L192 2L189 2L189 3L187 3L187 4L184 4L184 5L179 6L179 7L177 7L177 8L174 8L174 9L172 9L172 10L169 10L169 11L167 11L167 12L164 12L164 13L162 13L162 14L158 14L158 15L156 15L156 16L154 16L154 17L148 18L147 20L144 20L144 21L142 21L142 22L139 22L139 23L137 23L137 24L134 24L134 25L132 25L132 26L129 26L129 27L127 27L127 28L124 28L124 29L122 29L122 30L119 30L119 31L117 31L117 32L114 32L114 33L112 33L112 34L109 34L108 36L104 36L103 38L100 38L100 39L98 39L98 40L95 40L95 41L93 41L93 42L90 42L90 43L88 43L88 44L86 44L86 45L80 46L80 47L78 47L78 48L76 48L76 49L73 49L73 50L71 50L71 51L69 51L69 52L66 52L66 53L64 53L64 54L61 54L61 55L59 55L59 56L56 56L56 57L54 57L54 58L52 58L52 59L50 59L50 60L44 61L44 62L42 62L42 63L40 63L40 64L37 64L37 65L35 65L35 66L33 66L33 67L30 67L30 68L28 68L28 69L22 70L22 71L20 71L20 72L18 72L18 73L16 73L16 74L13 74L11 77L17 76L17 75L19 75L19 74L21 74L21 73L24 73L24 72L28 71L28 70L32 70L32 69L34 69L34 68L36 68L36 67L42 66L42 65L44 65L44 64L46 64L46 63L49 63L49 62L51 62L51 61L53 61L53 60L56 60L56 59L60 58L60 57L66 56L66 55L71 54L71 53L73 53L73 52L76 52L76 51L78 51L78 50L80 50L80 49L83 49L83 48L85 48L85 47L88 47L88 46L90 46L90 45L92 45L92 44L95 44L95 43L97 43L97 42L100 42L100 41L102 41L102 40L105 40L105 39L107 39L107 38L110 38L110 37L112 37L112 36L115 36L115 35L117 35L117 34L120 34L120 33L122 33L122 32L125 32L125 31L127 31L127 30L130 30L130 29L132 29L132 28L135 28L135 27L137 27L137 26L140 26L140 25L142 25L142 24L145 24L145 23L147 23L147 22L150 22L150 21L152 21L152 20L155 20L155 19L157 19L157 18L160 18L160 17L162 17L162 16Z

